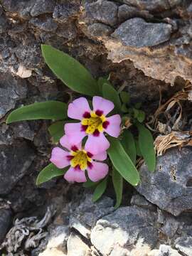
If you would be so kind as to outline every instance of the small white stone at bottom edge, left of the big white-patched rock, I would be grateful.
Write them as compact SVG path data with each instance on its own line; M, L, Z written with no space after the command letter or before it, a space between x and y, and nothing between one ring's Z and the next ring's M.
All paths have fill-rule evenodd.
M68 256L89 256L90 247L88 247L85 242L76 235L75 233L70 233L68 238Z

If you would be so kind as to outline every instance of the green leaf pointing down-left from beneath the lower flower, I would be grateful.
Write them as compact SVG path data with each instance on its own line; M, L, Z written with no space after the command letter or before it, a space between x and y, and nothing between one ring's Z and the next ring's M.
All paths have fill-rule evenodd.
M39 174L36 180L36 185L40 185L46 181L50 181L51 178L64 175L68 170L68 167L64 169L58 169L54 164L48 164Z

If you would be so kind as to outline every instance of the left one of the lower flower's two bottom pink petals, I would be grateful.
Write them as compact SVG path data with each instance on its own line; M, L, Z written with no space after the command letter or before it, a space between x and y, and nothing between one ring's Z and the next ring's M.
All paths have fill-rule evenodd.
M74 169L70 167L68 171L64 175L65 180L69 182L85 182L87 178L85 177L85 171L81 171L80 169Z

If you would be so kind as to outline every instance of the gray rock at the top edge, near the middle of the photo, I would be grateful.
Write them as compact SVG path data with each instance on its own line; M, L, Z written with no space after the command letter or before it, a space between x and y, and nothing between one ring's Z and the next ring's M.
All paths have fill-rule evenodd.
M85 10L91 22L98 21L110 26L117 24L118 7L111 1L98 0L95 3L86 4Z

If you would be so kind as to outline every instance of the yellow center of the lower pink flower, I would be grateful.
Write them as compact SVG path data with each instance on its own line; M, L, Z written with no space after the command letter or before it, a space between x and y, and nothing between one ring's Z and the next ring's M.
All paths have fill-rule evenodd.
M87 155L87 151L82 149L78 151L71 151L70 154L73 156L73 159L70 161L70 165L72 167L80 167L82 171L85 171L87 166L92 166L92 159Z

